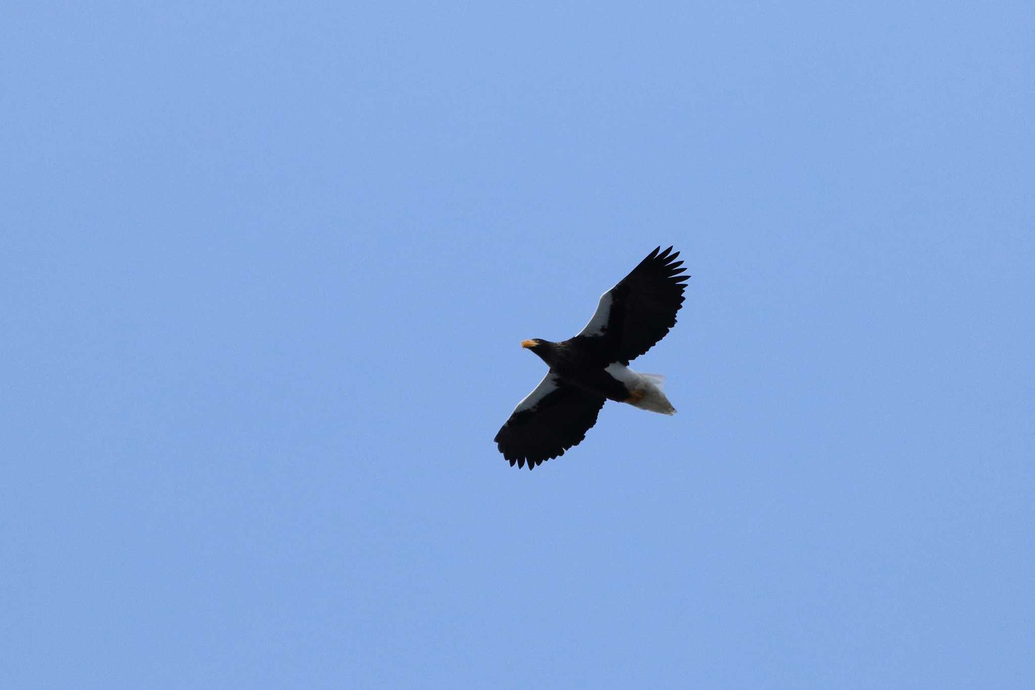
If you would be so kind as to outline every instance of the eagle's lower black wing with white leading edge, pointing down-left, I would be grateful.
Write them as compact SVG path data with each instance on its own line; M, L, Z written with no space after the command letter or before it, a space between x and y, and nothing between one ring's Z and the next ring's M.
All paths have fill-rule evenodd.
M519 468L564 454L586 438L607 398L561 381L553 371L518 403L496 434L503 457Z

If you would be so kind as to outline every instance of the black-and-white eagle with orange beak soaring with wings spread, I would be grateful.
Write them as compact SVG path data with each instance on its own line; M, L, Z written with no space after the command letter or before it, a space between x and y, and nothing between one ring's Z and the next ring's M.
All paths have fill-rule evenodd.
M633 371L629 361L676 325L690 277L680 275L686 269L680 268L678 256L660 246L647 254L600 296L593 318L573 338L522 340L521 347L538 355L550 370L496 434L510 467L533 470L579 445L607 400L675 414L661 391L664 377Z

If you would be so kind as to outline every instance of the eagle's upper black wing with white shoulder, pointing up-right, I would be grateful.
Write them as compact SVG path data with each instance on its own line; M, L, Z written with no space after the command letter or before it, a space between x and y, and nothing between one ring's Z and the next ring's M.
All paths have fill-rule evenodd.
M676 325L683 305L685 268L676 261L679 252L657 247L617 286L600 296L596 312L579 333L599 338L597 347L612 362L628 364L664 337ZM576 337L579 337L576 336Z

